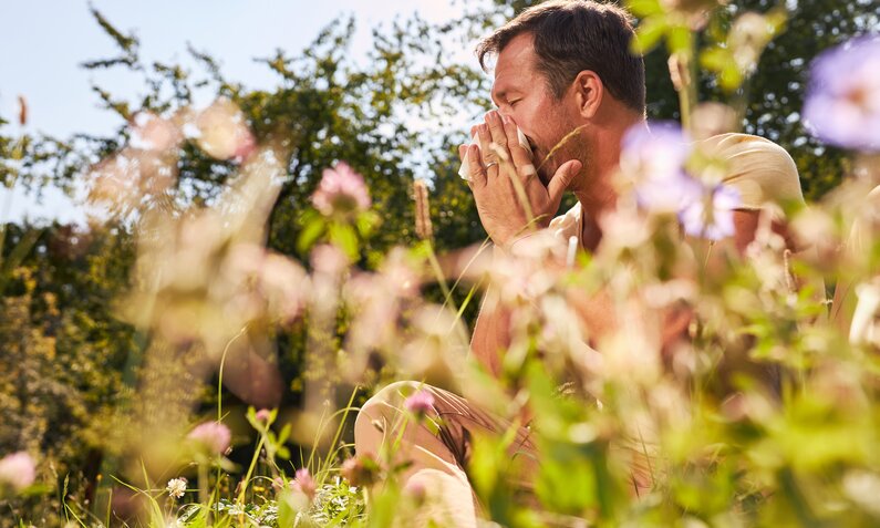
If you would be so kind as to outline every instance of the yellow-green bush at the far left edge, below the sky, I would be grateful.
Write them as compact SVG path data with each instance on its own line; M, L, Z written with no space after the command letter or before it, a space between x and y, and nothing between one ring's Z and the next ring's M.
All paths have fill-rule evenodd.
M102 229L12 226L2 255L33 235L33 250L3 277L0 452L39 453L44 482L66 483L77 500L87 500L101 452L122 425L116 406L126 394L124 376L134 374L125 369L134 330L112 310L133 248L125 234ZM33 521L54 525L59 498L10 506L18 514L31 507ZM11 526L4 521L0 526Z

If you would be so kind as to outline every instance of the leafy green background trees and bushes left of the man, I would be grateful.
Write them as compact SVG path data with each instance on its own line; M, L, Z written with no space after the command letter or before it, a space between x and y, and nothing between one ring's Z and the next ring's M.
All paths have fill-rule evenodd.
M93 184L89 175L95 168L94 159L108 158L131 145L132 124L138 114L189 112L194 94L201 90L232 101L244 111L257 142L284 153L287 179L270 216L270 248L306 258L297 247L302 214L311 209L310 196L322 170L340 161L364 175L373 207L382 211L381 226L362 246L362 266L371 267L392 246L416 240L411 196L416 176L432 180L442 193L432 203L438 248L458 248L483 236L470 194L456 174L455 144L464 138L464 131L454 131L448 123L462 108L476 113L476 107L484 107L488 91L482 73L447 60L443 46L454 25L434 28L415 18L395 23L387 32L375 31L369 62L359 66L346 52L354 21L337 21L301 54L278 50L262 59L278 74L279 84L273 90L256 91L227 80L217 60L193 49L190 54L200 65L197 72L177 64L145 63L134 35L114 28L100 12L93 14L120 53L84 66L127 70L143 77L146 94L137 101L125 101L94 86L104 107L125 124L108 136L23 139L22 163L14 167L18 184L38 190L49 183L68 190L77 182ZM0 136L4 154L11 152L13 143ZM115 319L114 307L130 287L138 221L152 209L176 214L210 204L238 168L237 162L215 159L190 143L184 143L176 156L174 185L145 195L104 228L48 228L17 271L17 280L10 282L11 297L4 309L9 317L0 341L18 343L21 355L29 360L3 370L3 408L14 420L3 429L2 442L10 447L27 444L39 448L56 460L60 479L84 470L86 478L73 478L69 487L79 499L94 482L101 452L113 455L124 448L110 445L116 436L107 434L107 427L118 425L116 410L125 405L133 391L145 386L144 376L151 375L138 367L145 364L141 359L145 340L136 339L132 327ZM7 168L0 176L10 184L13 170ZM7 240L3 255L21 237L42 232L32 226L12 226L11 230L14 236ZM82 246L86 249L77 250L74 259L50 250L49 240L79 248L72 240L86 238L93 244ZM58 339L61 335L63 340ZM299 397L296 387L302 370L303 334L294 328L277 338L279 366L294 389L286 398L294 403ZM23 375L22 369L33 375ZM27 394L17 393L21 380L34 380ZM182 385L196 390L195 385ZM58 391L65 393L62 405L50 397L59 395ZM31 411L44 416L39 423L45 427L34 434L24 434L15 425L28 423L20 405L25 396L39 407ZM89 453L97 459L89 458Z

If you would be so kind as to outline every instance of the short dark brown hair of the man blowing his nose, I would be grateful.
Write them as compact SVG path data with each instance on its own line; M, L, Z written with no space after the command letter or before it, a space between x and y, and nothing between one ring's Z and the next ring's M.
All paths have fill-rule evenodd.
M624 9L592 0L553 0L529 8L477 45L479 65L522 33L535 37L538 71L559 99L583 70L599 75L605 89L632 110L644 113L644 60L630 51L634 31Z

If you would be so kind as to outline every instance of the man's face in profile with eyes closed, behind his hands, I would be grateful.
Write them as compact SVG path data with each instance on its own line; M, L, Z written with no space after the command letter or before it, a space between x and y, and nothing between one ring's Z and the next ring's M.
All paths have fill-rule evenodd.
M519 34L498 54L491 99L501 115L510 116L528 137L536 167L543 164L538 175L546 185L560 165L573 158L586 163L587 156L582 142L573 137L545 163L550 151L580 123L571 92L557 100L546 76L535 68L538 56L532 42L530 33Z

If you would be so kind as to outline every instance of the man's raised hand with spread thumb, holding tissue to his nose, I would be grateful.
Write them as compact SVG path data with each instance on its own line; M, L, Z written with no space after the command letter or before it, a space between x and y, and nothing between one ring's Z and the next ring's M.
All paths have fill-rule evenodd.
M531 154L517 139L517 125L513 120L493 111L475 130L479 146L460 145L458 156L464 161L467 155L470 190L486 232L497 246L505 247L526 231L547 227L559 209L562 193L581 169L581 163L572 159L562 164L545 187ZM532 218L517 193L517 183L521 185Z

